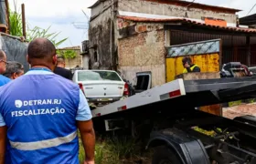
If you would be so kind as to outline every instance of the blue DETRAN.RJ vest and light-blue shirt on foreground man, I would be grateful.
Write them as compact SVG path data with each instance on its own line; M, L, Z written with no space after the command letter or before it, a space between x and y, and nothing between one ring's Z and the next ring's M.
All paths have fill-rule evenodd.
M53 84L52 87L49 86L51 84ZM57 90L54 90L54 88L57 88ZM45 90L43 91L44 95L38 95L37 90L41 90L41 93L42 90ZM13 156L13 161L10 163L22 163L22 161L30 161L33 163L37 160L38 163L40 163L39 161L42 160L57 162L59 161L59 158L62 159L62 162L73 161L74 163L77 163L78 160L76 160L76 151L78 150L78 138L74 136L77 129L74 121L86 121L92 118L91 109L89 108L88 102L77 85L63 77L55 75L51 71L37 69L30 70L23 77L12 80L4 87L0 87L0 92L0 127L5 125L7 126L7 136L12 143L20 142L26 144L29 142L33 144L37 141L45 139L48 140L51 138L59 139L61 137L68 138L69 136L75 138L73 140L71 139L70 143L65 143L57 147L55 146L55 148L36 148L33 151L27 151L24 148L19 149L19 147L14 147L8 150L10 151L11 156ZM55 102L56 99L53 99L54 102L51 102L51 99L46 99L45 101L45 98L52 97L62 97L62 100L60 99L60 102L58 100ZM22 105L19 107L19 103L21 101L16 101L14 98L25 100L23 101L23 106L26 107L21 108ZM30 104L28 104L28 101L26 100L30 100L31 98L37 100L37 103L40 103L39 106L41 105L42 108L45 109L36 110L37 106L34 107L33 105L31 106L32 108L29 108ZM44 98L44 101L38 100L41 98ZM74 99L70 100L70 98ZM48 100L50 101L49 103L53 104L45 105L43 107L43 104L48 103ZM14 101L16 103L15 107L13 107ZM27 103L26 105L24 104L25 102ZM29 101L29 103L31 102ZM53 108L55 106L54 104L66 104L64 107L67 109L66 113L63 106L60 105L60 108L57 107L55 109ZM18 108L21 110L16 111ZM49 111L55 111L56 115L47 115L47 112ZM34 115L34 117L27 117L29 115ZM38 124L36 123L32 125L31 121L35 123L38 122ZM26 131L24 131L24 128ZM52 129L55 130L52 131ZM51 133L48 133L48 130L50 130ZM31 134L34 135L31 136ZM54 159L54 154L58 154L61 151L65 153L60 155L61 157L56 156L56 159ZM72 153L67 153L67 151ZM38 159L37 154L40 153L44 153L45 155L48 154L49 156L40 156ZM21 154L23 157L20 156ZM33 158L29 159L28 157Z

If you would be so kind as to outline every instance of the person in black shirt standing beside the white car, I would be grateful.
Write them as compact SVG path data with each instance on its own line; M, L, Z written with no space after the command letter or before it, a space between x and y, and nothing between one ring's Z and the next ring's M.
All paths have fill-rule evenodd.
M54 73L69 80L73 78L72 72L65 68L65 59L62 56L57 58L57 67L55 67Z

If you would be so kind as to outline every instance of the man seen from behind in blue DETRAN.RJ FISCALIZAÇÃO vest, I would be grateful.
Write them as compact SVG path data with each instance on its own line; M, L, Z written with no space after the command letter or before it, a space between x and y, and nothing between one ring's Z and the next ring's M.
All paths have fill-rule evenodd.
M31 69L0 89L0 163L5 138L11 164L79 164L79 138L85 164L94 164L95 135L91 110L80 87L54 74L55 46L46 38L27 48Z

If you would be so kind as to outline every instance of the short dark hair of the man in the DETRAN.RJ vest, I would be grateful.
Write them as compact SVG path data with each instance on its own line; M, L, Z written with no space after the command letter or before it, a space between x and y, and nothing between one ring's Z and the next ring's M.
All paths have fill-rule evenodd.
M30 59L49 58L56 55L56 48L47 38L36 38L27 47L27 55Z

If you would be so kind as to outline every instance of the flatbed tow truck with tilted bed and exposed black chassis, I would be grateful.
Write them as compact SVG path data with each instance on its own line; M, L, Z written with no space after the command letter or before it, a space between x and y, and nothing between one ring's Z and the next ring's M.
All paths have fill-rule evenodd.
M256 118L234 119L197 107L256 97L256 77L183 80L91 110L94 128L125 128L156 149L152 164L255 164Z

